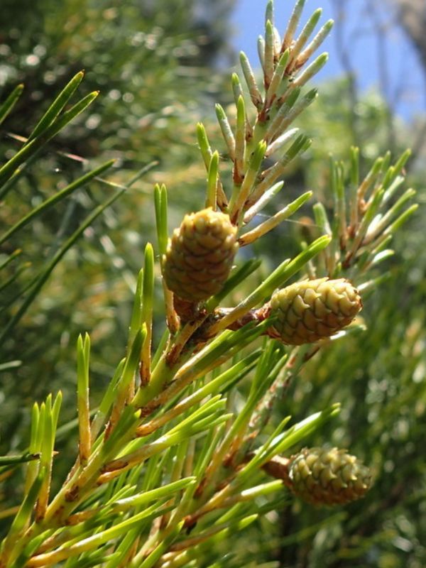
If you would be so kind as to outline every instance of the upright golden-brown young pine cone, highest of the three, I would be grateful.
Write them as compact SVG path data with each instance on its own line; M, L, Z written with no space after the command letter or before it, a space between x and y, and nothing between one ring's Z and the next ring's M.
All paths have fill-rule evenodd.
M228 215L211 207L185 215L168 243L165 283L184 300L207 300L222 290L237 249L236 227Z

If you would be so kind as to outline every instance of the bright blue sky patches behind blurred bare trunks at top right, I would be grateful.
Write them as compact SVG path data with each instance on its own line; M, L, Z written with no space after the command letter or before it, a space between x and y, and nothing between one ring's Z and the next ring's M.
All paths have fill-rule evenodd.
M377 87L379 84L378 45L373 33L373 23L365 11L365 2L370 0L341 0L346 7L344 40L351 43L351 61L356 69L360 89ZM275 0L275 25L282 34L293 10L293 0ZM384 6L384 3L382 4ZM264 34L264 11L266 0L237 0L232 16L234 26L234 48L243 50L253 67L258 67L256 40ZM310 14L321 6L321 23L329 18L336 19L329 0L307 0L300 25L303 26ZM388 4L386 4L388 7ZM416 114L426 111L425 77L417 60L417 54L405 35L391 23L393 14L381 9L381 21L385 26L386 73L388 76L388 97L395 101L395 110L404 119L410 120ZM332 31L322 46L329 52L329 62L317 75L317 81L343 74L337 55L336 33ZM318 52L320 53L320 52Z

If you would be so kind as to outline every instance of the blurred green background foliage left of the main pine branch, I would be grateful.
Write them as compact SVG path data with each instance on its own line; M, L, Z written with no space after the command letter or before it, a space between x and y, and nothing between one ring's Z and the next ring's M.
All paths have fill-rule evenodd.
M18 148L11 134L28 136L43 111L75 72L84 69L80 92L100 90L97 102L73 121L2 203L1 222L9 226L45 198L89 168L109 158L113 173L104 178L126 184L144 167L155 165L102 220L85 231L75 249L56 268L26 317L1 346L1 359L22 361L2 373L3 450L21 443L13 436L28 417L33 397L62 388L74 413L75 341L82 329L94 342L94 392L102 391L121 358L131 295L148 240L153 241L152 190L170 185L177 223L190 202L204 191L195 124L213 112L222 77L212 65L228 57L227 1L209 2L26 0L2 3L0 84L5 99L17 83L25 89L3 126L0 151L10 158ZM28 14L31 13L31 18ZM200 189L202 187L202 189ZM21 257L37 271L61 238L69 236L87 212L111 189L92 182L19 231L4 253ZM182 195L190 197L189 203ZM203 197L201 197L203 199ZM185 200L187 198L185 197ZM10 268L10 270L9 270ZM8 267L13 275L13 263ZM26 273L16 285L24 287ZM5 289L7 305L16 292ZM0 317L7 317L5 310ZM2 321L4 325L4 320ZM16 385L19 388L16 388ZM23 413L23 415L21 415ZM24 419L23 419L24 417Z

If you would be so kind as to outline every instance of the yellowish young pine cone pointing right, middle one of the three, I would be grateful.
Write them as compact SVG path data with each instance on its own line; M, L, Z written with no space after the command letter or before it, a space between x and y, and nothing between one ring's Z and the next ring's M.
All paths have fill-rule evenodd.
M271 297L277 320L268 334L290 345L316 342L350 324L361 307L358 290L344 278L296 282Z

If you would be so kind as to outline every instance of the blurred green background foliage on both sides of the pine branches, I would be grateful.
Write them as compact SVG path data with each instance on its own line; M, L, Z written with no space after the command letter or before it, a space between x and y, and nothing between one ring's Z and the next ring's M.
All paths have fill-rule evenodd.
M173 9L171 9L171 6ZM129 192L84 232L67 253L28 310L0 346L0 362L21 361L1 372L1 453L23 449L33 400L60 388L65 397L61 420L75 416L75 341L92 337L92 395L96 401L125 348L131 294L143 261L143 247L154 241L154 182L170 191L170 229L182 213L204 203L204 168L195 143L195 123L208 126L212 146L219 141L214 102L231 104L228 0L3 0L0 22L0 96L25 84L18 106L2 125L0 152L10 158L18 146L12 135L28 136L55 94L78 70L85 70L82 91L101 96L68 126L1 202L7 227L31 207L82 175L87 168L115 158L107 182L91 182L31 225L0 250L23 249L29 270L37 270L72 234L87 212L102 201L108 184L125 185L141 168L147 172ZM31 17L28 17L31 14ZM253 62L254 64L254 62ZM351 105L351 84L340 79L320 87L320 97L299 124L314 138L310 151L285 178L273 214L303 190L312 189L326 205L329 153L347 160L361 147L364 173L386 151L389 109L378 92L360 94ZM417 125L391 117L398 137L393 151L411 146ZM419 127L420 128L420 127ZM219 151L224 148L217 143ZM425 201L425 168L415 156L410 183ZM420 153L421 155L421 153ZM150 169L151 168L151 169ZM284 223L256 244L264 270L290 256L304 238L303 223ZM236 540L235 557L224 566L422 568L426 565L425 253L419 212L400 231L395 256L383 270L389 278L365 302L368 327L314 357L285 392L277 420L296 420L341 401L344 411L311 445L349 447L375 469L376 484L359 503L323 510L288 501L268 513ZM277 251L280 254L277 255ZM277 258L279 256L279 258ZM13 263L3 271L13 275ZM1 290L7 307L13 290ZM158 287L158 337L163 327ZM0 312L6 324L9 312ZM72 437L64 434L64 447ZM225 551L224 551L225 553ZM206 564L207 565L207 564Z

